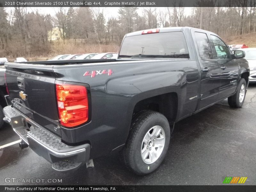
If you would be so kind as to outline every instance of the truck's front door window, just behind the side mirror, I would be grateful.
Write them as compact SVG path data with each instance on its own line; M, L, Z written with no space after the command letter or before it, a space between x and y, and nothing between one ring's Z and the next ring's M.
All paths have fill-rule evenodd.
M212 43L216 52L213 52L213 59L230 59L229 48L217 36L211 35Z

